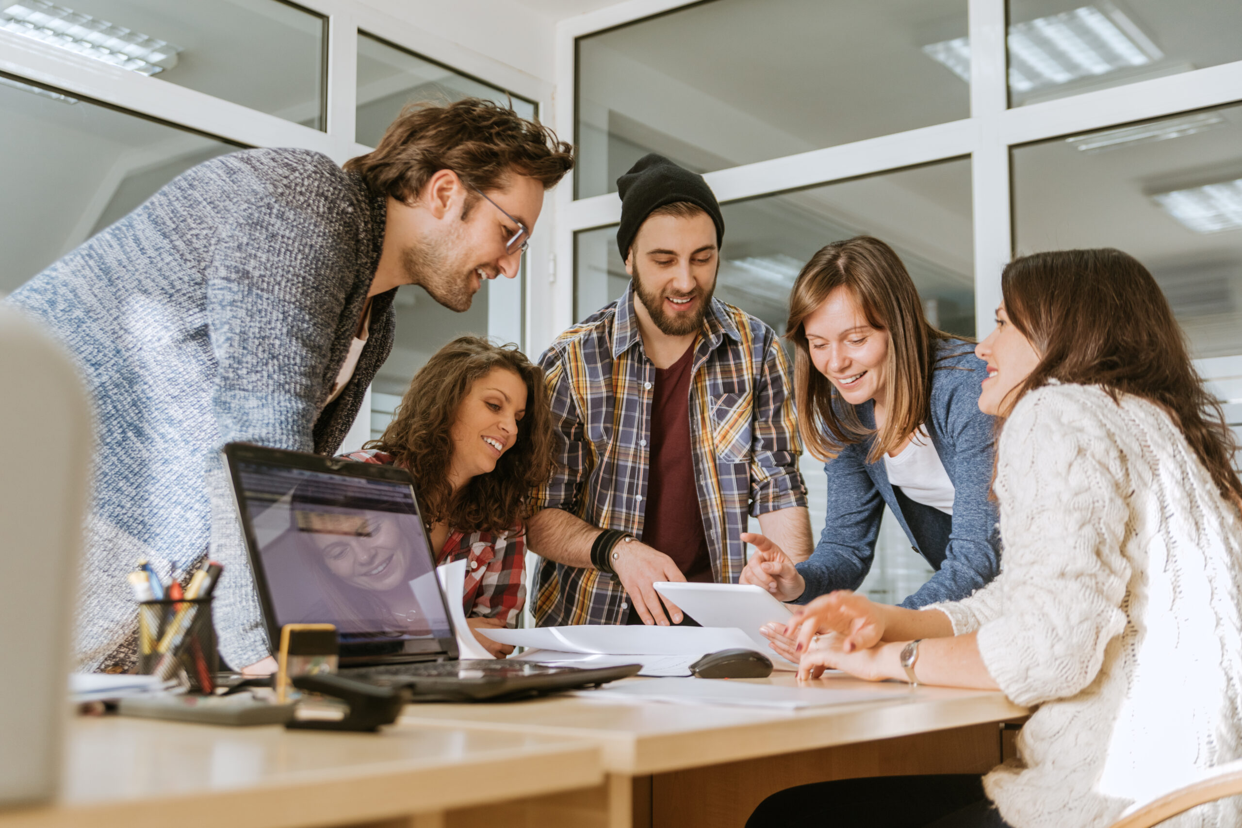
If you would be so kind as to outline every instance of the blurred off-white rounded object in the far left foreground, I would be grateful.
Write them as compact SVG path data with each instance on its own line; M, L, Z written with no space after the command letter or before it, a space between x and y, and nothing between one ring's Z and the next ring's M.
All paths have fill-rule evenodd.
M0 807L50 799L60 777L91 416L70 358L0 307Z

